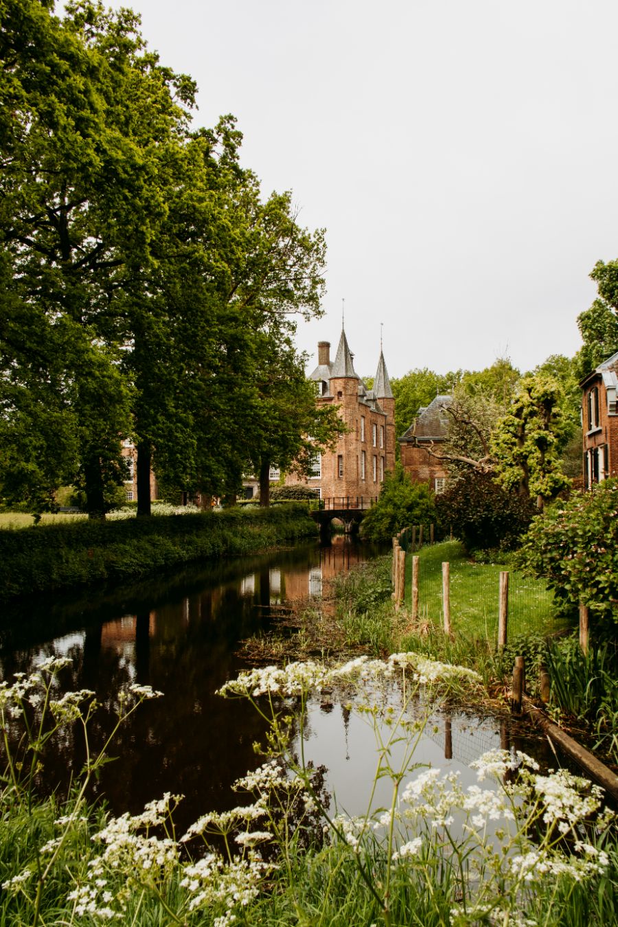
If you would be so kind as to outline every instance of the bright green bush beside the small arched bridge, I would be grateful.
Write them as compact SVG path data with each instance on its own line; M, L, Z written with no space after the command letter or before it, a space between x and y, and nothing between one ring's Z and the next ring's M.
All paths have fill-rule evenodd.
M401 464L385 476L378 501L360 523L367 540L389 540L410 525L435 521L434 493L425 483L413 483Z

